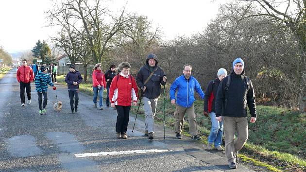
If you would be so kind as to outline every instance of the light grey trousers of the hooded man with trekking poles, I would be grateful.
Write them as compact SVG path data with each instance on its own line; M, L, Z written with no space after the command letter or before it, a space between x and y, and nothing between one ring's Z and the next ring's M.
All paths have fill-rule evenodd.
M143 109L146 115L145 131L148 133L154 133L154 117L158 99L148 99L142 97Z

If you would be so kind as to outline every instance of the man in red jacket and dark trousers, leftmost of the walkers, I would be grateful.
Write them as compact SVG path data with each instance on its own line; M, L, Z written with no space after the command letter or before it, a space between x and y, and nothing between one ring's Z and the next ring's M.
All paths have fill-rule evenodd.
M17 69L16 77L17 81L20 83L21 106L25 106L24 87L28 96L28 104L31 104L31 82L34 80L34 72L33 69L28 66L28 61L26 59L22 60L22 65Z

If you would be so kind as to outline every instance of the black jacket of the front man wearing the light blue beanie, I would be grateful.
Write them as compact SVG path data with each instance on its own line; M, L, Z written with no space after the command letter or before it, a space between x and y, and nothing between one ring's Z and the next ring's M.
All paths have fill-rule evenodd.
M225 87L229 76L225 77L219 85L215 104L216 117L221 115L226 117L246 117L247 106L251 116L256 117L255 93L251 80L249 80L250 86L248 86L243 76L244 70L241 75L237 75L234 71L230 75L231 82L227 91L225 91ZM228 94L228 98L225 107L226 94Z

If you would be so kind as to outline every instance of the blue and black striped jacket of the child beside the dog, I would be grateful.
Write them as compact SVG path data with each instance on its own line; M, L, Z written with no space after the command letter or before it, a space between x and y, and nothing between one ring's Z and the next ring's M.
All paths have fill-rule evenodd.
M40 70L38 74L35 76L35 90L37 92L47 92L48 84L50 86L54 86L51 81L51 77L48 73L43 73Z

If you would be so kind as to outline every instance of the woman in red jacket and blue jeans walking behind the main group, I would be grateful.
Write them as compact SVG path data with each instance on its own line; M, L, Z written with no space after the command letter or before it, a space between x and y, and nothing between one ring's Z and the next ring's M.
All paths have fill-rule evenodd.
M101 63L97 63L94 67L94 71L92 72L92 89L94 91L94 107L97 107L97 97L99 92L99 107L103 109L103 90L106 89L105 77L104 73L102 72Z

